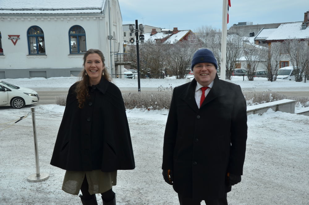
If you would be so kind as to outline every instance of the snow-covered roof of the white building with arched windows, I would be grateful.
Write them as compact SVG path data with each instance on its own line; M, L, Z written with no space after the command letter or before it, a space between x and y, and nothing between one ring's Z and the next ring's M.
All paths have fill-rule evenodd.
M1 0L0 15L101 13L105 0Z

